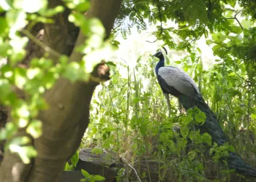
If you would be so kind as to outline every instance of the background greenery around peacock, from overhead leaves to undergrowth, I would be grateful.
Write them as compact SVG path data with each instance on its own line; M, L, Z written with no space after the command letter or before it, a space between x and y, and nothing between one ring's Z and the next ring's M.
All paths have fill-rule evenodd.
M170 50L187 52L187 56L175 63L167 55L168 63L183 68L197 82L230 138L230 145L252 166L256 149L256 36L255 12L250 9L254 6L245 1L126 1L113 31L113 38L120 33L129 39L132 27L144 33L143 30L157 25L153 33L155 41L148 46L164 42L162 46ZM206 37L206 43L217 55L208 69L203 68L206 63L197 44L201 36ZM233 171L228 172L225 166L218 168L219 163L208 162L211 137L188 129L189 124L198 122L193 115L196 111L184 116L173 99L173 114L168 116L165 98L154 75L156 60L148 56L155 51L134 52L138 58L135 68L124 60L117 61L110 83L103 84L93 100L91 125L84 144L124 154L124 160L135 166L146 160L147 170L138 172L141 179L155 175L150 174L153 161L158 164L159 180L239 181L234 176L230 179L229 173ZM181 127L181 135L173 132L177 125ZM214 145L210 150L214 162L225 160L227 151L235 150L233 146ZM129 165L127 171L129 181L128 176L133 173Z

